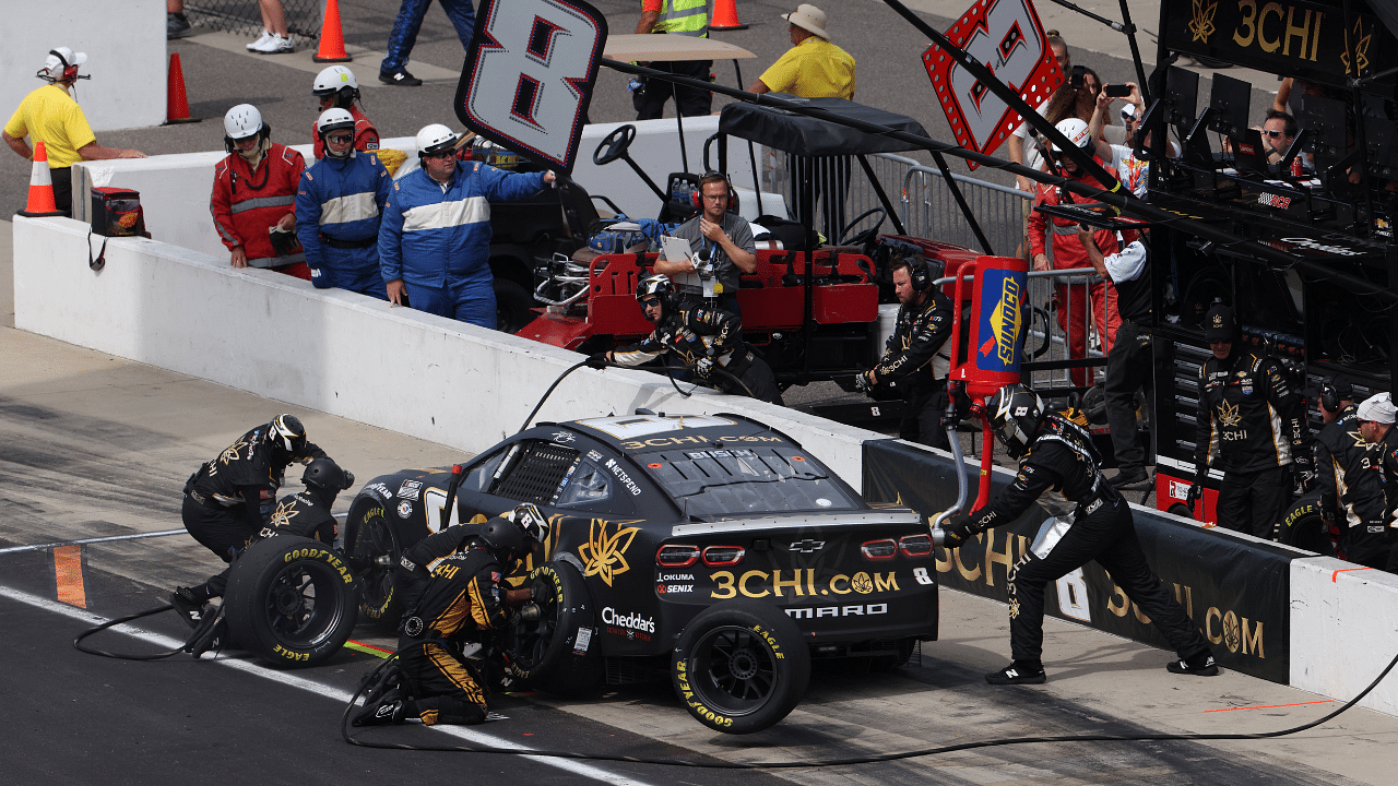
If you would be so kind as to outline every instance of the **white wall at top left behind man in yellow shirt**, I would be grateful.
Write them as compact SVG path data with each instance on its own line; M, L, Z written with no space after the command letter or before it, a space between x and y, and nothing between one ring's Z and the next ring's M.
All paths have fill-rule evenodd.
M34 73L49 50L87 52L77 101L92 130L137 129L165 122L164 0L59 0L0 3L0 112L8 120L20 101L45 85Z

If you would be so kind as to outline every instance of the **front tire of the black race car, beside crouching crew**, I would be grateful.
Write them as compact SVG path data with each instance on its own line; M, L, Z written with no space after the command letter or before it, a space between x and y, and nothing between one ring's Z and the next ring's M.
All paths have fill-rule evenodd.
M359 617L380 634L396 634L403 603L393 576L403 548L383 502L366 494L354 501L345 517L344 545L359 589Z

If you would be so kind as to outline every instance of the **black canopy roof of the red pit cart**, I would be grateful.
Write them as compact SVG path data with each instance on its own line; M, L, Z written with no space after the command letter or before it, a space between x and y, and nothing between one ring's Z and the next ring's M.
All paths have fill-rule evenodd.
M895 131L927 136L917 120L884 109L874 109L843 98L798 98L784 92L773 92L772 98L804 103L814 109L833 112L842 117L863 123L877 123ZM758 106L755 103L733 102L719 115L719 133L765 144L795 155L868 155L874 152L903 152L921 150L905 141L879 134L867 134L846 126L825 120L793 115L784 109Z

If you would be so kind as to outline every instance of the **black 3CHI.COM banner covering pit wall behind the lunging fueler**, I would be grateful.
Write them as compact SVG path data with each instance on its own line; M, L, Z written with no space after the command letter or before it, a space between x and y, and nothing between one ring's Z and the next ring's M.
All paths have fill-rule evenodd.
M970 483L974 484L976 470ZM991 476L991 495L1014 480ZM974 496L974 487L972 487ZM951 459L898 442L864 443L864 499L896 502L931 517L956 501ZM1132 510L1137 536L1156 575L1209 641L1222 666L1288 684L1290 681L1290 561L1285 547L1247 541L1232 533L1201 529L1167 513ZM1047 513L1030 508L1019 520L986 531L959 550L937 550L938 583L1007 601L1011 566L1029 550ZM1081 594L1081 597L1079 597ZM1089 562L1081 576L1067 576L1044 597L1048 615L1169 649L1153 625L1125 599L1107 572ZM1004 642L1009 652L1009 642ZM1169 656L1162 653L1159 666ZM1053 643L1044 663L1055 662Z

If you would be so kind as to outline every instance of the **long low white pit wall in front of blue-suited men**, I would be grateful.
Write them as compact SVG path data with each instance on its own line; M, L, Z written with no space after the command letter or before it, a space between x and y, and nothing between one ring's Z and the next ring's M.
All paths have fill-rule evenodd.
M15 217L15 327L470 452L514 434L542 392L582 359L144 238L112 238L106 267L92 273L87 234L70 218ZM751 399L682 399L665 378L617 369L573 372L538 417L636 407L758 418L856 490L860 446L881 438Z

